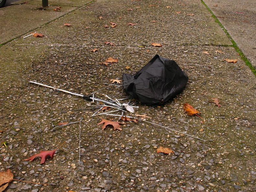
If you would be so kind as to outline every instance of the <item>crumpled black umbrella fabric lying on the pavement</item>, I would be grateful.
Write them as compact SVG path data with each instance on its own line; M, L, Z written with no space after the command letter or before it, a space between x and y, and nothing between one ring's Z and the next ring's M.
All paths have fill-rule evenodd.
M174 60L159 55L136 75L123 74L124 90L146 105L166 103L185 88L187 80Z

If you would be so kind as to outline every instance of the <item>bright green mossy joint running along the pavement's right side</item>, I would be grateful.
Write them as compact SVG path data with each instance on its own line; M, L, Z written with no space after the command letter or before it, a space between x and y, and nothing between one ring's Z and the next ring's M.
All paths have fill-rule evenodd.
M241 49L237 46L236 42L234 41L234 39L229 35L229 32L227 31L227 29L221 24L221 22L219 21L219 19L214 15L214 13L211 11L211 9L206 5L206 3L204 2L204 0L201 0L201 3L203 5L205 5L205 7L207 8L207 10L210 12L210 14L212 15L212 18L214 18L215 22L219 24L219 26L221 27L221 29L225 32L225 34L227 35L227 37L229 38L229 40L231 41L232 45L228 45L228 47L233 47L235 48L236 52L238 52L240 58L245 62L245 64L251 69L252 73L256 76L256 69L251 65L251 62L247 59L247 57L244 55L244 53L241 51Z

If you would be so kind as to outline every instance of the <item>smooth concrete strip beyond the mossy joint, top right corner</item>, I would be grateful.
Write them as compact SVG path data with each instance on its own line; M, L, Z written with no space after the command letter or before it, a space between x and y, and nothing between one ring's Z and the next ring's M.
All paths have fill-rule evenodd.
M241 51L256 67L256 1L204 0Z

